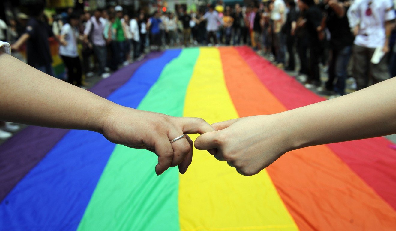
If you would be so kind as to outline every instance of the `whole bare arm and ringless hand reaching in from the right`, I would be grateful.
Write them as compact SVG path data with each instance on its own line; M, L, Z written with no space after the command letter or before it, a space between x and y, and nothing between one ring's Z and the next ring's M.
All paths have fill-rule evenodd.
M358 92L274 115L215 123L195 147L245 176L295 149L396 133L396 78Z

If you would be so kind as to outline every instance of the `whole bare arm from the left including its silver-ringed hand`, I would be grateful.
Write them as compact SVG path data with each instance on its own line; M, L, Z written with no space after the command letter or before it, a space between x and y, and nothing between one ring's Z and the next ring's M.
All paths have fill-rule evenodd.
M183 134L214 129L200 118L178 118L123 107L38 71L0 52L0 120L102 133L114 143L145 148L158 155L156 174L192 161L192 141L170 143Z

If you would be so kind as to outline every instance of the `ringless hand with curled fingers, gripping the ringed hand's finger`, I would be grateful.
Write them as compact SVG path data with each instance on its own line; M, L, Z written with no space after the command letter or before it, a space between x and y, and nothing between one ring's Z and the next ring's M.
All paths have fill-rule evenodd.
M289 129L282 114L250 116L212 124L215 132L202 134L195 147L209 150L244 175L251 176L291 151Z

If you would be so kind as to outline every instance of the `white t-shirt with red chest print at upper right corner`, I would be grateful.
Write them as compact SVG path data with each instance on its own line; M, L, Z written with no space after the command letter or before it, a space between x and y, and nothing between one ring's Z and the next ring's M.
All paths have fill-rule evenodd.
M368 8L371 9L371 15L367 15ZM350 27L360 26L354 44L367 48L384 46L385 22L395 18L392 0L356 0L348 10Z

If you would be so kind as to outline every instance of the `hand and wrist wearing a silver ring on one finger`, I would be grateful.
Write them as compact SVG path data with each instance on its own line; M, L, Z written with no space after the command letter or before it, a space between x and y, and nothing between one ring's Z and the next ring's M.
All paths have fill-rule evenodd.
M190 137L170 140L183 134L214 131L201 118L173 117L160 113L140 111L116 105L109 110L101 132L113 143L137 149L147 149L158 155L155 166L157 175L169 167L179 165L184 174L192 161L192 140Z

